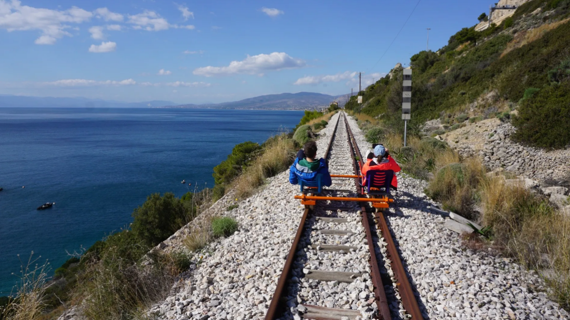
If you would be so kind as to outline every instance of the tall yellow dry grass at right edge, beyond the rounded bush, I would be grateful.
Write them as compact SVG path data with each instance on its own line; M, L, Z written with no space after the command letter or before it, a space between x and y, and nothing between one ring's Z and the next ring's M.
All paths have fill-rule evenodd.
M488 179L481 196L483 224L492 228L494 242L528 268L546 270L551 298L569 309L570 216L501 177Z

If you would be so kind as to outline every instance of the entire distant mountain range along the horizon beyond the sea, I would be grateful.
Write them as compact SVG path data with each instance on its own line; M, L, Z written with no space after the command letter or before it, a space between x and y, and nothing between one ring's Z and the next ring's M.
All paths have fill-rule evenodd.
M172 101L120 102L87 98L26 97L0 95L0 107L51 108L215 108L215 109L290 109L304 110L328 106L337 101L342 106L347 95L330 96L314 92L280 93L218 104L181 104Z

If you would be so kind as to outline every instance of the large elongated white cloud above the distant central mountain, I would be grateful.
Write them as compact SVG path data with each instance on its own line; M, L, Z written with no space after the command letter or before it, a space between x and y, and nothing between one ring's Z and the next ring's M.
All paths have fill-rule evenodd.
M231 61L227 67L202 67L194 69L192 73L200 76L227 76L235 73L246 73L249 75L262 76L263 72L301 68L306 65L301 59L292 58L285 52L273 52L272 54L260 54L257 56L247 56L242 61Z

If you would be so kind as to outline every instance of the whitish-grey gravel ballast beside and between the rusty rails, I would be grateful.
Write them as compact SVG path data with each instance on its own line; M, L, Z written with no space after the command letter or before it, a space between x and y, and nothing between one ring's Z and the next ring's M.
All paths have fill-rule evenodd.
M339 116L333 116L329 125L321 130L317 140L319 150L326 145L327 136L332 134ZM348 123L360 149L369 149L356 121L349 118ZM245 200L237 201L231 194L219 200L211 208L210 215L233 217L239 223L238 232L213 241L193 255L189 270L182 274L169 296L150 309L150 313L159 319L263 319L304 211L293 198L299 194L299 187L289 184L287 177L286 171L268 179L264 187ZM449 218L431 210L438 207L438 203L425 195L426 182L405 174L398 174L398 179L400 188L394 194L396 202L385 216L424 318L570 317L557 303L548 300L547 288L538 274L528 272L514 260L491 249L473 251L464 247L461 235L444 227ZM206 216L200 219L206 219ZM192 229L200 219L185 228ZM344 228L360 234L359 226L353 223ZM318 227L319 223L315 221L312 228ZM159 245L159 249L182 248L185 232L177 232ZM335 241L341 245L359 245L357 241L342 237ZM384 247L381 237L377 244L379 248ZM307 261L316 259L312 255L308 254ZM325 260L333 268L355 268L363 274L369 272L367 261L353 261L366 259L359 253L351 259L332 256L332 253L326 255ZM380 249L377 255L382 257L384 252ZM340 261L345 261L345 266L338 265ZM389 264L382 262L384 272L390 273ZM304 274L296 274L302 294L297 296L297 301L287 305L288 317L303 318L307 310L299 308L299 302L311 302L357 310L363 319L371 318L375 310L374 296L366 277L363 281L355 281L357 285L354 286L332 281L317 290L303 285ZM397 298L397 290L389 296L392 318L404 319L406 315L400 312L402 307Z

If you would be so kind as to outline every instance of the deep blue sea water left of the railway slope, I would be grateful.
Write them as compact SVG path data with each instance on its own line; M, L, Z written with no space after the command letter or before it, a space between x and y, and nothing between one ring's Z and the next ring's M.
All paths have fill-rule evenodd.
M293 128L299 111L0 108L0 296L30 253L68 252L131 221L153 192L213 187L237 143ZM191 182L181 184L181 180ZM22 188L25 186L25 188ZM38 211L46 202L54 207ZM18 257L20 256L20 258Z

